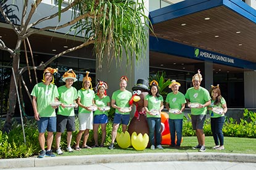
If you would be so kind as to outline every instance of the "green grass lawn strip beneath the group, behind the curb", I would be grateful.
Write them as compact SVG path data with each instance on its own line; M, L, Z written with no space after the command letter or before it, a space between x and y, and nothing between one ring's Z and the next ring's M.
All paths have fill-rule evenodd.
M222 152L222 153L249 153L256 154L256 139L254 138L243 138L243 137L225 137L224 138L225 150L214 150L212 147L215 145L212 136L205 137L205 152ZM198 150L192 149L197 145L197 139L195 136L183 137L183 142L181 143L180 149L170 149L168 145L163 145L162 150L155 149L151 150L149 148L138 151L129 147L128 149L121 149L115 144L114 150L107 149L108 146L104 148L93 148L93 149L81 149L80 151L74 150L73 153L64 152L61 156L71 156L71 155L105 155L105 154L117 154L117 153L170 153L170 152L198 152ZM58 155L59 156L59 155Z

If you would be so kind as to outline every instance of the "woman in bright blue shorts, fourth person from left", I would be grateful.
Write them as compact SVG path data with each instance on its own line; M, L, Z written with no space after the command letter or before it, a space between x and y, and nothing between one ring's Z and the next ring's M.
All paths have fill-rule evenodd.
M94 138L94 146L93 147L104 147L106 126L108 122L107 113L110 109L110 98L107 96L107 88L108 85L106 82L102 82L98 80L95 87L95 91L97 91L97 95L94 98L94 103L97 106L97 110L94 111L93 117L93 138ZM101 145L98 144L98 130L99 125L101 125L102 137L101 137Z

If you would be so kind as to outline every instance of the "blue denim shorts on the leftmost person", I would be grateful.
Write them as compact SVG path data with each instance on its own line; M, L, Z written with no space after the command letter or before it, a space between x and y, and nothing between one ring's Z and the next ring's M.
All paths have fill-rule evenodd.
M38 120L38 132L56 132L56 117L40 117Z

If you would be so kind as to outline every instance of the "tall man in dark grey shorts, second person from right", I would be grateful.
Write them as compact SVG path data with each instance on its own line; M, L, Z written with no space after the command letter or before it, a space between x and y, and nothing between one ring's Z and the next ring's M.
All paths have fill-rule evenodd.
M196 147L193 149L199 149L199 152L205 152L205 135L203 131L204 121L207 114L207 106L210 105L209 91L203 87L200 87L202 82L202 75L200 70L197 71L192 77L193 87L186 91L186 101L188 106L191 107L191 122L192 127L196 130L197 142Z

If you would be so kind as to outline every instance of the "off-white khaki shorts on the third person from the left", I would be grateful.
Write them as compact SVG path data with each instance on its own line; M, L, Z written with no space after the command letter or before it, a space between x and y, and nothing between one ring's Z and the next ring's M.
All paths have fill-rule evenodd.
M79 130L93 129L93 112L90 114L78 114Z

